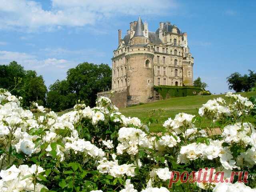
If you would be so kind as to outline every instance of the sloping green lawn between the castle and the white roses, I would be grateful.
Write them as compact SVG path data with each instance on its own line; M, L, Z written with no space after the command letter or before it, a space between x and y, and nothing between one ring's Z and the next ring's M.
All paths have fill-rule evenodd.
M248 98L250 98L251 96L256 96L256 92L242 92L238 94L241 94L242 96ZM186 96L160 100L152 103L141 104L138 106L121 108L120 112L125 116L138 117L142 121L145 121L152 114L152 110L155 110L154 116L158 116L159 123L155 124L154 127L151 128L151 131L158 132L162 129L162 123L169 117L174 118L174 116L180 112L196 115L198 114L198 109L202 106L202 104L205 104L210 99L218 97L226 99L225 94ZM163 110L161 115L159 115L159 109Z

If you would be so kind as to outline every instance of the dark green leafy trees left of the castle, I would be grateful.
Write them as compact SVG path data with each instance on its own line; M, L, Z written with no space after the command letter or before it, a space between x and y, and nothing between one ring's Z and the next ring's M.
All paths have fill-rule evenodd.
M23 98L26 108L36 101L54 111L72 108L77 100L84 100L88 106L95 106L97 92L111 89L111 68L107 64L84 62L67 71L65 80L56 80L45 85L36 71L24 70L16 61L0 65L0 88L6 88L13 95Z

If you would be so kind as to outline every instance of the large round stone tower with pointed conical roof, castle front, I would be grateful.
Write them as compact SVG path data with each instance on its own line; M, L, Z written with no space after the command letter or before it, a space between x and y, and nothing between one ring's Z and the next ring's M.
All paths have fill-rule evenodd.
M147 44L144 26L139 17L136 31L126 53L127 61L127 105L146 103L154 95L154 50Z

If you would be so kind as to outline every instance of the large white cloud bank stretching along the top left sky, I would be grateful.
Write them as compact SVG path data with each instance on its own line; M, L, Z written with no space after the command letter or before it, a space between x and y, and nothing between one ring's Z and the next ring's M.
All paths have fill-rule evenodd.
M2 0L0 28L26 29L94 25L120 15L165 14L177 7L174 0L52 0L50 10L34 0ZM111 21L112 22L112 21Z

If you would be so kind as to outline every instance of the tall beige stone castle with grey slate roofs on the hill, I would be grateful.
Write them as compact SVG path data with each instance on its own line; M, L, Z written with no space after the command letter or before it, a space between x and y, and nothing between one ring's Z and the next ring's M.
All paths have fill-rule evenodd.
M187 33L170 22L160 22L156 32L148 24L130 23L112 58L112 101L118 107L154 100L154 86L192 86L194 58L188 47ZM98 96L110 96L110 92Z

